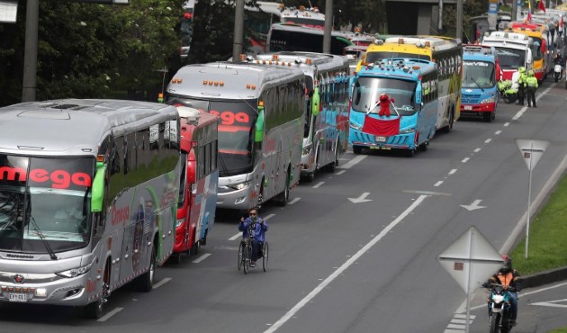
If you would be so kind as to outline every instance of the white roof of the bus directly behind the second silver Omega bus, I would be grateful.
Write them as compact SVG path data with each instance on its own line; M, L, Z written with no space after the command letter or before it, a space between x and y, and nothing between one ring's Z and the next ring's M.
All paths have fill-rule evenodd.
M264 53L258 54L256 56L257 61L270 61L278 60L284 62L291 62L292 67L300 67L303 73L308 74L308 72L313 72L310 67L317 67L320 71L327 70L339 70L341 68L348 67L348 60L346 57L325 54L325 53L315 53L315 52L302 52L302 51L282 51L274 53ZM346 73L348 74L348 73Z

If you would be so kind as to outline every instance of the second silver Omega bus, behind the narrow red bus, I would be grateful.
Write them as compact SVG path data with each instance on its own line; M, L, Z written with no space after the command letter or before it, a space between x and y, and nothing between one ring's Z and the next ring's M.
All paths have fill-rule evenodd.
M217 207L247 210L289 200L298 183L305 122L305 83L295 67L219 62L182 67L167 102L216 114Z

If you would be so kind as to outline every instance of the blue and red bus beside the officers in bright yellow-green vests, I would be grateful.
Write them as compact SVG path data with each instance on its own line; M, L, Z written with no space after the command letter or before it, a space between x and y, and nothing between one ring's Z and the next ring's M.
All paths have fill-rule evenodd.
M461 115L480 116L491 122L496 117L496 49L486 45L464 45Z

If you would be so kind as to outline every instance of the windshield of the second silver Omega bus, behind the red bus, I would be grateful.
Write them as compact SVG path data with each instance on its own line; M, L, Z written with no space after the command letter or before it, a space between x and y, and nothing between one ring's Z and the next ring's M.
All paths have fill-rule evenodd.
M217 115L219 119L220 176L252 170L257 100L205 101L174 97L167 101Z

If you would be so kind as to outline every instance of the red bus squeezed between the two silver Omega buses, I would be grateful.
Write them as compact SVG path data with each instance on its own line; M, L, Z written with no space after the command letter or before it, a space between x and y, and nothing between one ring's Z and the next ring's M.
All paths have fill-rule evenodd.
M169 101L175 105L175 99ZM194 256L207 244L217 209L219 185L218 120L211 113L178 106L181 118L181 160L184 166L179 184L175 245L171 259Z

